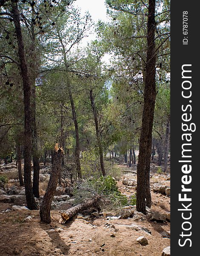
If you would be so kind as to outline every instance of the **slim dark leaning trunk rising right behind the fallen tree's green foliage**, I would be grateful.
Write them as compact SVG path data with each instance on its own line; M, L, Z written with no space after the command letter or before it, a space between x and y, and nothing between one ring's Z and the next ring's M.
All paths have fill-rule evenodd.
M97 119L97 112L96 112L96 108L95 108L95 103L94 103L94 97L93 97L93 94L92 94L92 90L90 90L90 101L91 101L91 107L92 107L93 114L94 114L94 122L95 122L95 128L96 128L97 143L98 143L99 154L100 154L101 171L102 171L103 176L106 176L106 171L105 171L104 164L103 164L103 148L102 148L102 144L101 144L101 138L100 138L100 133L99 133L99 125L98 125L98 119Z

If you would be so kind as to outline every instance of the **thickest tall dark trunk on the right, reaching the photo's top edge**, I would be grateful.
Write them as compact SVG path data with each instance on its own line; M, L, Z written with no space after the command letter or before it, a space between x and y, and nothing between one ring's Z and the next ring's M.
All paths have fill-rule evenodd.
M149 13L147 22L147 55L146 55L146 75L144 88L144 107L142 127L140 134L140 150L137 164L137 203L138 212L146 214L146 159L149 157L149 147L151 147L151 134L154 118L154 107L156 98L155 73L156 73L156 54L155 54L155 0L149 0ZM150 144L150 146L149 146Z

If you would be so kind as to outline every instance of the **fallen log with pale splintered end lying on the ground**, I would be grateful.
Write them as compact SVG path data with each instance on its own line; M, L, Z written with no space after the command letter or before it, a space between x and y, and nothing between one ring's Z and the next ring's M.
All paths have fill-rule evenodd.
M67 220L76 215L78 212L83 212L84 210L95 206L99 200L100 196L97 195L90 200L84 201L81 204L77 204L76 206L69 208L66 212L61 214L59 223L64 224Z

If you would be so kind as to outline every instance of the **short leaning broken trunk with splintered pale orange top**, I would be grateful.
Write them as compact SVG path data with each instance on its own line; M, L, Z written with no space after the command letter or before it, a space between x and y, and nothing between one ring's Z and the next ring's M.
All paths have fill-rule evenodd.
M49 183L43 197L43 201L40 206L40 219L45 223L51 222L51 202L53 200L54 194L56 192L58 173L60 172L61 159L63 151L55 147L54 151L54 164L52 166L52 172L49 179Z

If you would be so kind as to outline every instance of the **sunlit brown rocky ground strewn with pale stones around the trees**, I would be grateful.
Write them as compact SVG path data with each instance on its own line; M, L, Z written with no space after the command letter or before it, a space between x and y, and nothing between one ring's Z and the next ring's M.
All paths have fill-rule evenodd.
M5 173L5 167L0 166L0 171ZM43 195L51 166L40 168L40 194ZM136 192L136 166L131 168L132 172L127 172L130 169L126 165L120 168L122 175L117 186L131 198ZM11 169L6 172L17 170ZM170 175L158 174L157 170L156 163L152 163L152 206L147 209L147 215L137 212L135 206L127 206L109 212L85 212L64 225L58 223L60 212L68 209L74 199L65 195L62 187L57 187L54 197L51 224L43 224L38 210L23 207L24 189L19 187L17 177L9 174L9 184L0 183L0 255L169 256Z

